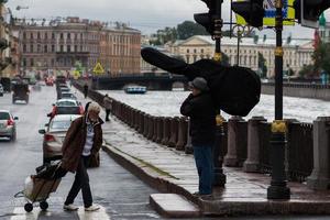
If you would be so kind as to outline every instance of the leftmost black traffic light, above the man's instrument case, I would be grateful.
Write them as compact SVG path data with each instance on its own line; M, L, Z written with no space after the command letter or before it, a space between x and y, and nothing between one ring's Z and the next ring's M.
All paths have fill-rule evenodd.
M201 1L207 4L207 7L209 8L209 12L194 14L194 19L198 24L202 25L209 34L213 35L215 32L213 15L216 14L217 0L201 0Z

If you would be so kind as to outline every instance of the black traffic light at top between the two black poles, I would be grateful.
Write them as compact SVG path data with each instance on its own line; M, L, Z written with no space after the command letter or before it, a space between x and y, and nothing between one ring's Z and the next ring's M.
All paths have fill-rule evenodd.
M231 3L232 10L241 15L248 24L254 28L263 25L265 10L263 0L234 1Z

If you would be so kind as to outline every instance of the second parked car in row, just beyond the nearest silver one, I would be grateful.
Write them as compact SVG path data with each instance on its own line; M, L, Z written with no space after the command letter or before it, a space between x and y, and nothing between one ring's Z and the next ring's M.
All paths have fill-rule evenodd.
M84 114L84 107L74 99L59 99L53 103L52 112L47 117L52 119L56 114Z

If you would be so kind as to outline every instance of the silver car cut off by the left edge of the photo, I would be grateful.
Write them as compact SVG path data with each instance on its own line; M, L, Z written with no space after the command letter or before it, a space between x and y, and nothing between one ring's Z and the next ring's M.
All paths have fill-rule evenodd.
M8 138L11 141L16 140L18 117L13 117L8 110L0 110L0 138Z

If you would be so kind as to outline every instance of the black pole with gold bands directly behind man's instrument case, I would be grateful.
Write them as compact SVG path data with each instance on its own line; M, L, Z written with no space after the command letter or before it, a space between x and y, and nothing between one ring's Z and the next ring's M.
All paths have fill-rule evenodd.
M221 18L221 8L222 8L223 0L216 0L216 14L213 14L215 21L215 32L213 32L213 40L216 40L216 51L213 61L221 63L222 55L221 55L221 37L222 37L222 18ZM221 117L221 111L217 116L217 133L216 133L216 145L213 147L213 165L215 165L215 180L213 186L224 187L226 185L226 175L223 174L222 168L222 158L223 155L220 154L220 147L223 147L221 144L224 138L223 133L223 118Z

